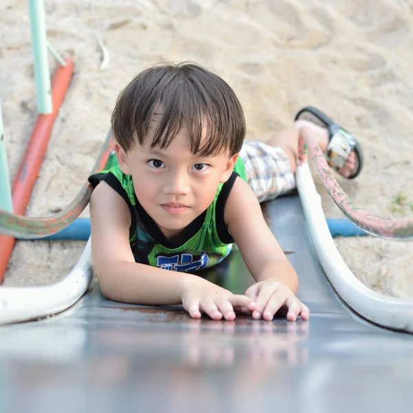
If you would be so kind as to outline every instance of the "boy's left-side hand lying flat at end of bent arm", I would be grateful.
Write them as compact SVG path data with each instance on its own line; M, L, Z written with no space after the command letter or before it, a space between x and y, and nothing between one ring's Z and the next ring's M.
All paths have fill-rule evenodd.
M235 295L195 275L182 280L181 301L194 319L199 319L201 313L207 313L213 320L220 320L222 317L233 320L235 310L246 308L253 312L257 306L253 299L245 295Z

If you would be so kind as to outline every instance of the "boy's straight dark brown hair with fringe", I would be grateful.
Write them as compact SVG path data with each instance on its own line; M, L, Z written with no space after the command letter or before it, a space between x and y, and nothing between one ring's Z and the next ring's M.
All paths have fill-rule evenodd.
M143 70L120 92L112 114L112 131L119 145L130 150L145 141L160 104L161 116L151 147L164 149L182 126L189 129L192 153L213 156L238 153L245 136L245 119L233 89L194 63L162 63ZM207 127L208 139L202 140ZM201 146L202 145L202 146Z

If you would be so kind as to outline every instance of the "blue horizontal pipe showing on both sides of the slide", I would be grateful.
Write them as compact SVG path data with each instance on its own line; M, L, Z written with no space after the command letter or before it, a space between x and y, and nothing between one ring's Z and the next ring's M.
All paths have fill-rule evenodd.
M347 218L328 218L328 229L332 237L355 237L367 235L362 229L359 229ZM41 240L80 240L87 241L90 236L90 220L89 218L78 218L72 224L67 226L59 233L41 238Z

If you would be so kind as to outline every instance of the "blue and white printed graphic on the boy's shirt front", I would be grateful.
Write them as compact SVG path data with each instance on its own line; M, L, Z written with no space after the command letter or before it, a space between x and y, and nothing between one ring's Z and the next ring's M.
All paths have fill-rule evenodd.
M199 255L184 251L182 253L165 254L160 253L156 256L156 266L163 270L170 271L198 271L205 268L209 263L209 257L205 251Z

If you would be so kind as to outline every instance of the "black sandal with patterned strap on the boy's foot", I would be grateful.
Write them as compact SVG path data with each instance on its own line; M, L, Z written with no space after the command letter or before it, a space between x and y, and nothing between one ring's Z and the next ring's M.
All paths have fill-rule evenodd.
M352 170L348 179L356 178L363 168L363 152L356 138L340 125L333 122L326 114L313 106L306 106L295 116L295 120L308 120L315 125L328 129L328 147L326 159L328 165L339 171L347 162L350 153L354 151L357 158L357 165Z

